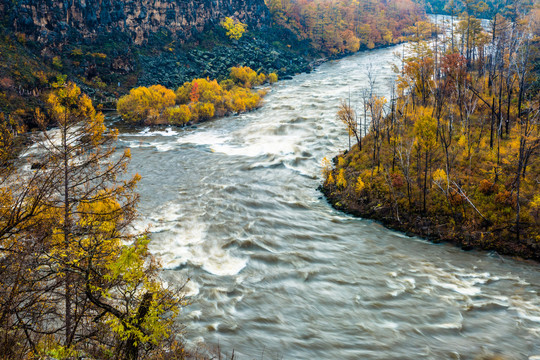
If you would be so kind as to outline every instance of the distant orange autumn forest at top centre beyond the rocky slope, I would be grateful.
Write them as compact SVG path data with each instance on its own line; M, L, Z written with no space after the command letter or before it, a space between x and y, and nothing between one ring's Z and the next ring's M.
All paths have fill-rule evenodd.
M266 0L274 22L329 55L403 42L423 19L411 0Z

